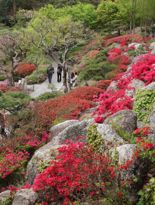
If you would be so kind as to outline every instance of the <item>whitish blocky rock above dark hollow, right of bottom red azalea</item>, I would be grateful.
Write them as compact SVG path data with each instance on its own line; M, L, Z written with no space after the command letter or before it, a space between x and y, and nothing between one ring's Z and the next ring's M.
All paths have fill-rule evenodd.
M136 145L134 144L124 144L116 148L119 156L119 164L124 164L127 160L131 160Z

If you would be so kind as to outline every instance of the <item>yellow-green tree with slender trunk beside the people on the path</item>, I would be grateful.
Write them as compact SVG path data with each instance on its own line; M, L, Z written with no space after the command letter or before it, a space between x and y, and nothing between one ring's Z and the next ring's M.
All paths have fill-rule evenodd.
M63 68L63 85L67 87L68 53L84 40L84 27L70 16L52 20L47 17L34 19L23 35L28 55L45 55ZM23 43L24 44L24 43ZM29 46L31 45L31 46Z

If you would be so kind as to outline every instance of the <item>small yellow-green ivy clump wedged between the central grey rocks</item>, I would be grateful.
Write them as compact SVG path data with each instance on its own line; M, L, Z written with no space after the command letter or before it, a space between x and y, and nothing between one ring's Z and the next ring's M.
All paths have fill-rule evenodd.
M103 151L104 141L101 135L98 133L96 125L91 125L88 128L87 141L94 150L99 152Z

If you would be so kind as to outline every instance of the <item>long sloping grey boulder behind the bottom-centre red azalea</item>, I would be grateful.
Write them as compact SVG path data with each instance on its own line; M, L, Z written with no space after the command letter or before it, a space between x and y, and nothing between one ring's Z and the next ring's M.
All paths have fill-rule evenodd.
M67 126L62 132L52 138L52 140L39 148L29 161L27 166L26 179L32 184L41 167L46 167L52 159L58 154L58 148L65 144L65 140L70 139L76 141L79 136L86 136L87 126L92 123L92 120L83 120L72 123ZM55 129L56 133L56 129ZM85 138L81 138L85 140Z

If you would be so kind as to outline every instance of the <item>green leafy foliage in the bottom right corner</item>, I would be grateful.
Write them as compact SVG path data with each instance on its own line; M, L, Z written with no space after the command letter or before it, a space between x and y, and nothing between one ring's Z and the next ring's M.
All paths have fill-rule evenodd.
M137 205L154 205L155 204L155 178L151 178L149 183L146 184L139 192L140 199Z

